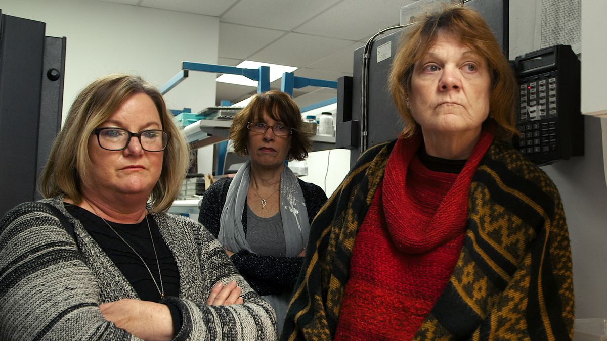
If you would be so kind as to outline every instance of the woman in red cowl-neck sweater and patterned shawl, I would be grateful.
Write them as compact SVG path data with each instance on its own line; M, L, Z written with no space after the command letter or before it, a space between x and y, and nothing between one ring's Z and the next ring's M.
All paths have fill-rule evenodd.
M509 144L517 83L491 30L452 7L402 42L404 132L316 216L282 339L571 339L565 214Z

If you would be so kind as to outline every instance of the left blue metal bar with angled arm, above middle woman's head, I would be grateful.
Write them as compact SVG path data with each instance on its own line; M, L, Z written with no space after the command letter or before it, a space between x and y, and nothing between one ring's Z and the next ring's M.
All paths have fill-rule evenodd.
M202 62L183 61L181 62L181 71L173 76L168 82L160 87L160 93L163 95L173 89L183 79L188 78L189 70L228 73L229 75L242 75L246 78L257 81L257 93L262 93L270 90L270 67L260 66L259 69L242 69L236 66L225 66L217 64L205 64ZM336 86L337 88L337 86ZM291 91L292 92L292 91Z

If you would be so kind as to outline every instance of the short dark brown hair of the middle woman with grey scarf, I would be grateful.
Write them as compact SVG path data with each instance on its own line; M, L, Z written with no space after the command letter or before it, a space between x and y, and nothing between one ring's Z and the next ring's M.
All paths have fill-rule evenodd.
M288 160L305 160L311 149L311 134L302 131L304 120L297 103L288 93L280 90L270 90L258 93L253 100L234 116L229 130L229 138L234 142L234 152L246 155L249 130L246 124L257 122L266 113L275 121L281 121L285 126L293 128L291 149L287 154Z

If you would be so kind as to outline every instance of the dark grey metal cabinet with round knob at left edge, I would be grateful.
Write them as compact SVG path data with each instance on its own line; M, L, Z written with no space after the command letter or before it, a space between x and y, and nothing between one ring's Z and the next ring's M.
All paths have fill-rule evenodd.
M0 10L0 216L38 200L36 180L61 128L66 38Z

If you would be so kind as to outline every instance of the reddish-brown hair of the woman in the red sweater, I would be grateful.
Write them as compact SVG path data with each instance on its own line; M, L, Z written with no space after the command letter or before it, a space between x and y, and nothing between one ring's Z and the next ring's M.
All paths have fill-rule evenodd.
M441 34L459 36L463 44L486 58L491 77L489 113L497 123L495 138L509 141L517 133L514 126L517 91L514 72L483 17L474 10L461 6L444 8L439 13L420 18L401 37L388 78L396 108L405 122L401 135L410 137L418 129L407 106L413 68Z

